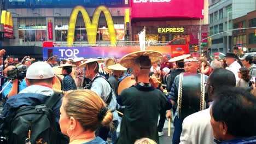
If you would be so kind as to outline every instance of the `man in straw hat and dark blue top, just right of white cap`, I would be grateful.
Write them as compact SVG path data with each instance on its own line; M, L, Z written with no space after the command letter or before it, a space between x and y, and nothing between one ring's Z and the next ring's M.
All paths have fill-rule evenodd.
M60 67L58 68L62 68L62 75L64 76L62 81L61 81L61 90L62 91L69 91L69 90L75 90L77 89L77 86L75 85L75 81L72 78L71 71L72 68L75 67L75 65L73 64L62 64Z

